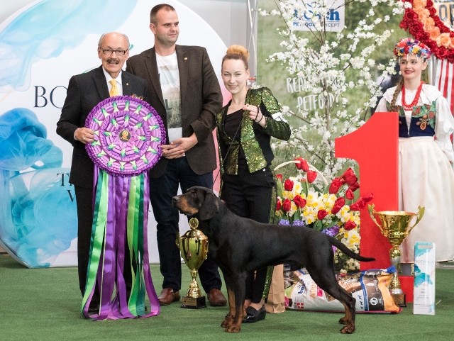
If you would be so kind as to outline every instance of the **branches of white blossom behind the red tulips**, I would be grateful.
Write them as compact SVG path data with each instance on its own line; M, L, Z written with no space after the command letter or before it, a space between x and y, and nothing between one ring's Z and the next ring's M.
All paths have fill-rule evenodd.
M370 7L365 18L355 25L353 30L343 30L327 34L324 21L332 9L343 6L344 1L326 0L275 0L277 9L265 11L259 9L262 16L281 16L287 29L278 29L283 38L281 52L275 52L267 62L283 65L289 77L299 79L299 91L316 96L319 108L297 106L295 111L288 107L284 115L297 118L299 124L292 126L292 138L288 142L276 142L275 147L293 146L304 150L309 162L322 170L326 177L334 177L345 168L345 159L336 159L334 140L347 135L365 123L367 111L377 104L382 95L377 76L371 72L379 70L379 78L384 79L394 73L394 60L387 64L377 63L371 55L377 46L385 43L393 30L387 28L391 15L403 13L404 6L399 0L355 0ZM345 0L345 4L353 0ZM376 6L386 4L389 15L378 16ZM310 6L310 10L309 9ZM311 40L301 36L301 31L292 30L294 13L304 13L311 18ZM382 29L383 28L383 29ZM339 53L339 48L342 52ZM346 77L354 72L355 77ZM350 79L354 78L355 81ZM345 96L355 91L355 101ZM314 139L316 132L319 138Z

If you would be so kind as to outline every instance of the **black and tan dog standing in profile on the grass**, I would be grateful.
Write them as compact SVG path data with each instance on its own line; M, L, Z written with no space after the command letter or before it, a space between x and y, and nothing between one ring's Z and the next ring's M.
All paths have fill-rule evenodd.
M204 187L191 187L174 196L173 204L185 215L199 219L199 229L209 240L209 253L223 272L230 313L221 326L227 332L240 331L248 272L283 263L292 269L305 267L316 284L345 307L345 316L339 320L345 325L341 332L355 331L355 298L336 280L331 245L354 259L367 262L373 258L361 257L342 242L311 228L263 224L236 216Z

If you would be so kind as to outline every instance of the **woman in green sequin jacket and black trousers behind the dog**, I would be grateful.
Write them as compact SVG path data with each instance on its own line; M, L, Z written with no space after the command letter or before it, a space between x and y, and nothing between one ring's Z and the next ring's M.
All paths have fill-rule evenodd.
M274 158L271 137L289 140L290 127L270 89L249 89L249 52L245 47L228 47L222 60L222 79L232 99L216 113L221 164L221 199L238 216L272 222L276 182L271 170ZM243 323L265 318L265 297L271 271L258 269L246 279Z

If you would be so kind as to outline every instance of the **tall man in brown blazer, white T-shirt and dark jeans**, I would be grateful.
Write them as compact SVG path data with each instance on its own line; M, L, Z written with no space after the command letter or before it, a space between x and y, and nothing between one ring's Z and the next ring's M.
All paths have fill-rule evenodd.
M145 101L160 114L167 131L162 158L150 170L150 202L157 221L157 248L164 276L161 305L179 301L181 258L175 245L179 213L172 207L178 186L213 186L216 150L214 114L221 108L218 79L204 47L176 45L178 16L168 4L154 6L150 30L155 46L132 56L126 70L143 77L150 96ZM225 306L221 279L213 259L199 269L201 285L211 306Z

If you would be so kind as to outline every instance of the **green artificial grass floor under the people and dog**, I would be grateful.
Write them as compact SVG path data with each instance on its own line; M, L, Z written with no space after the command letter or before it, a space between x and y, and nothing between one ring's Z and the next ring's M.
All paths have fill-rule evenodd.
M162 276L151 265L159 294ZM183 291L189 269L182 264ZM436 270L436 315L413 315L409 304L398 314L357 314L356 332L342 335L340 313L285 311L267 314L241 332L220 327L226 307L182 309L162 306L152 318L93 322L80 314L82 298L76 268L27 269L0 255L0 340L452 340L454 333L454 269ZM222 291L226 294L225 286Z

